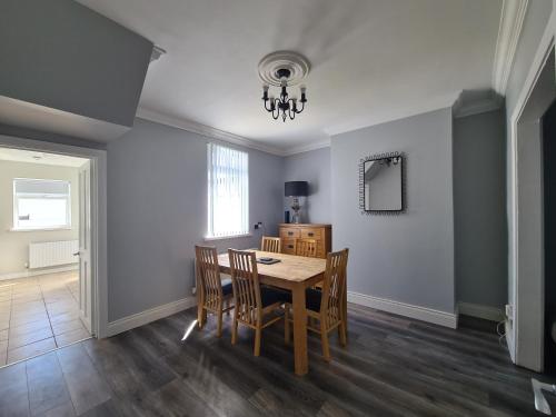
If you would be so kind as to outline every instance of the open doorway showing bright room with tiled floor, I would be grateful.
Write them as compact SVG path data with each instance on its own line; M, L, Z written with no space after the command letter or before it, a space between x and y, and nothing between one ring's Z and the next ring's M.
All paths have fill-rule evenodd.
M90 161L0 147L0 366L91 337Z

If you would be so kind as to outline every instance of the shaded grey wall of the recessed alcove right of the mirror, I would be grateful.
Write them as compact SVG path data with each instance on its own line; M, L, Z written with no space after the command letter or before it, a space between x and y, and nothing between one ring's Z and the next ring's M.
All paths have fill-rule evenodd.
M507 300L504 110L454 120L454 224L458 301Z

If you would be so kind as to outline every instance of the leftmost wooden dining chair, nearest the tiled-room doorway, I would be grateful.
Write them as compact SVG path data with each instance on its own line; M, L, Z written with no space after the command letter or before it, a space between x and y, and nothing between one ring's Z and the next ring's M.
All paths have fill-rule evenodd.
M197 269L197 308L199 328L207 322L207 311L217 316L217 336L222 335L222 314L234 307L231 278L222 279L218 266L218 254L214 246L195 246ZM226 305L226 307L225 307Z

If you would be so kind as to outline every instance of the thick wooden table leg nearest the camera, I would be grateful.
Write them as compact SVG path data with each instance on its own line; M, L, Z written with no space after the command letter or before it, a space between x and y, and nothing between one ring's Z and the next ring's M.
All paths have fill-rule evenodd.
M291 290L294 309L294 355L296 374L305 375L309 370L307 355L307 311L305 309L305 286L296 285Z

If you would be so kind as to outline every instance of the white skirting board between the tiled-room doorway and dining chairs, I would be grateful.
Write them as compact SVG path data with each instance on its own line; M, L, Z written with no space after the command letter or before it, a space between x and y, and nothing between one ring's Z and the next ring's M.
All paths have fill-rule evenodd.
M196 297L187 297L177 301L168 302L162 306L153 307L148 310L137 312L131 316L120 318L108 324L107 337L118 335L122 331L131 330L136 327L145 326L151 321L175 315L176 312L187 310L197 305Z

